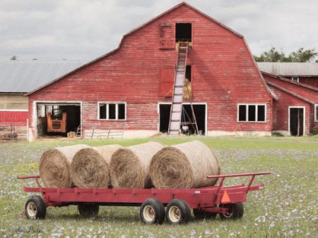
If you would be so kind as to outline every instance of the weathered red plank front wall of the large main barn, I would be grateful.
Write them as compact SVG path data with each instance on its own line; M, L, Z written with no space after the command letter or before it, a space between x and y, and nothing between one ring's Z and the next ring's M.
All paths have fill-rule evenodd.
M97 120L98 101L125 101L127 130L158 130L160 68L175 67L174 49L158 49L161 23L193 25L194 101L207 102L209 131L271 132L271 96L244 40L188 6L163 15L124 38L118 51L30 95L33 101L83 101L83 125L108 127ZM266 104L266 123L237 123L237 104ZM33 121L30 113L30 122ZM33 125L34 126L34 125Z

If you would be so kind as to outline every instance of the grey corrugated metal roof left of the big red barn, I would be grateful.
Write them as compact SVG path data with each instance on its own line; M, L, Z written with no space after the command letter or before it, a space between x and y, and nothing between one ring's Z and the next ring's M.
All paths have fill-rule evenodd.
M69 73L86 61L2 61L0 93L27 93Z

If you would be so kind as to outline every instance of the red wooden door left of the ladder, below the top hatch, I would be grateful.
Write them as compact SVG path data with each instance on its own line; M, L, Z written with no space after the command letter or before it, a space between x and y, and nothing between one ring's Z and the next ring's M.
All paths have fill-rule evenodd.
M159 96L172 96L175 68L160 68Z

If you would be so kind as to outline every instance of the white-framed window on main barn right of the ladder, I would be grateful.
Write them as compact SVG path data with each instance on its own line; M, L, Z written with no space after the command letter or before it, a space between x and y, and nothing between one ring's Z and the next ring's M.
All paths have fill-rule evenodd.
M265 122L265 104L239 104L237 106L237 120L239 122Z

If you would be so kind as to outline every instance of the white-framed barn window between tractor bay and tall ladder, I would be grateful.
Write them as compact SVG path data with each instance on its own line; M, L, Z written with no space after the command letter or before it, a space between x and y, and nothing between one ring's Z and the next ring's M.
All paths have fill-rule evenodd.
M126 103L99 102L98 120L126 120Z

